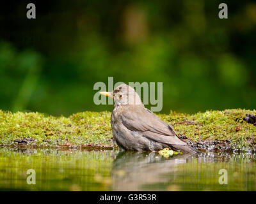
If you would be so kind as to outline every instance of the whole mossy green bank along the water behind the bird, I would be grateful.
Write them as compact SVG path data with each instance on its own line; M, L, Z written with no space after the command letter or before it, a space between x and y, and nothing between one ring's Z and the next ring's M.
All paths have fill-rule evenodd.
M256 110L232 109L194 115L170 112L158 117L200 150L255 150L256 126L244 120ZM82 112L70 117L0 110L0 145L20 147L117 148L110 112Z

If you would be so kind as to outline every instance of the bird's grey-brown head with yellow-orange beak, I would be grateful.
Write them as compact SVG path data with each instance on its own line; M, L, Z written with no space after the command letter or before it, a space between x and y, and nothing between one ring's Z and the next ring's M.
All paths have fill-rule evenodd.
M140 96L132 87L121 84L112 92L100 92L100 94L114 99L115 105L141 105Z

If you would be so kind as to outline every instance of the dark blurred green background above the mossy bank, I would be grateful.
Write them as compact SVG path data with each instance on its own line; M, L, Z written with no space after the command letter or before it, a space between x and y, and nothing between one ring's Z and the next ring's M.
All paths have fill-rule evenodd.
M256 105L255 1L6 1L0 25L2 110L112 110L93 103L108 77L163 82L163 113Z

